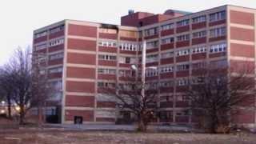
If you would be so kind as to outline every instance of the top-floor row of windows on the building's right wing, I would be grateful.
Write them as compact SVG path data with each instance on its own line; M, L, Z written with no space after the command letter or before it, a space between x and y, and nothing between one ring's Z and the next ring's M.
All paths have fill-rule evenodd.
M223 19L226 19L226 11L220 11L214 14L210 14L209 15L210 18L210 22L215 22L215 21L220 21ZM202 16L198 16L195 18L192 18L192 23L198 23L198 22L206 22L206 15L202 15ZM190 19L185 19L179 22L176 22L176 26L188 26L190 25ZM175 24L174 23L170 23L170 24L166 24L161 26L161 30L170 30L170 29L174 29ZM150 28L148 30L145 30L145 36L151 36L151 35L155 35L158 34L158 27L154 27L154 28Z

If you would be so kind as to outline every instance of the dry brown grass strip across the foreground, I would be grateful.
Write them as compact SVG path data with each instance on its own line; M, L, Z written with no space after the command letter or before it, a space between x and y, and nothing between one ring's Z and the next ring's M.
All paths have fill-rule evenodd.
M63 130L7 130L1 144L253 144L254 134L168 134Z

